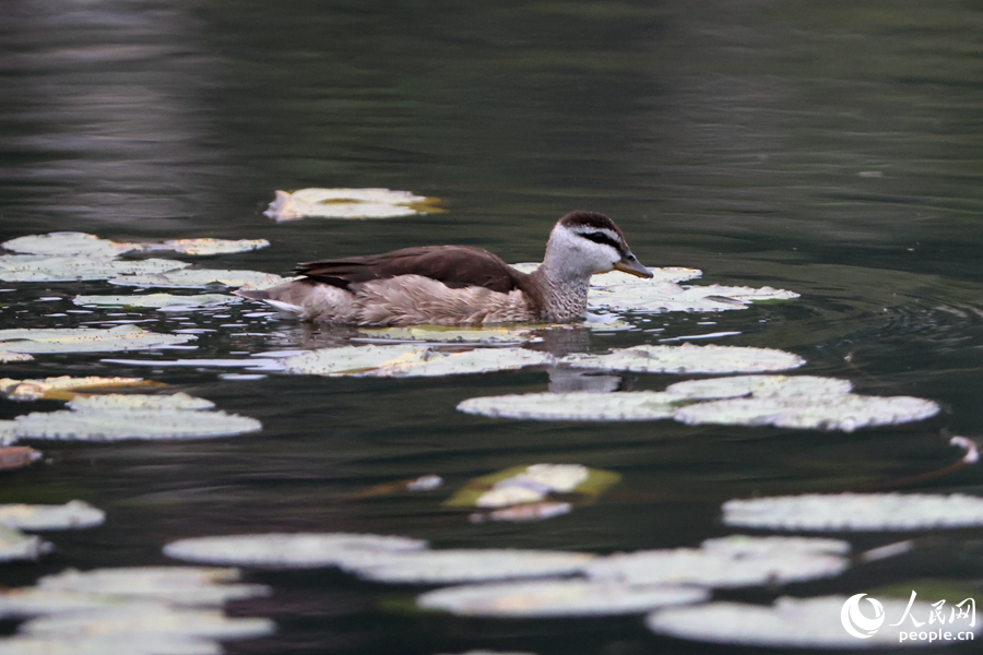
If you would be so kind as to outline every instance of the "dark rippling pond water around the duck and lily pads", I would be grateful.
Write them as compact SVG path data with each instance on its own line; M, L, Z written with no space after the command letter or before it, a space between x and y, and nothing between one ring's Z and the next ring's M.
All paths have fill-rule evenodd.
M614 552L741 532L721 522L732 498L983 492L976 467L932 475L961 456L951 434L983 431L975 3L8 0L0 15L0 240L57 230L118 241L265 238L263 250L175 257L280 274L298 261L446 242L519 262L538 261L560 215L595 210L647 265L801 297L636 317L635 331L565 331L538 347L601 353L735 332L713 343L782 348L806 359L798 372L943 406L929 420L852 433L488 419L454 408L546 391L548 373L237 379L164 364L304 349L336 335L252 303L76 313L75 295L130 290L2 283L0 329L205 330L193 349L39 355L0 365L2 377L144 377L263 425L220 440L28 441L45 461L3 473L0 499L84 499L108 519L50 535L57 550L36 563L2 564L4 586L69 567L174 563L162 547L193 536L353 532L440 548ZM275 190L305 187L405 189L446 211L281 224L262 215ZM618 385L662 390L680 379L626 373ZM58 407L0 401L0 418ZM541 522L472 523L441 507L475 477L541 462L614 471L621 481ZM383 492L431 474L443 488ZM731 595L852 595L983 574L983 531L917 535L935 540L829 581ZM856 551L905 538L831 536ZM333 570L247 576L272 596L228 612L270 617L277 632L230 642L229 653L726 650L655 636L638 616L415 615L392 608L405 609L417 587Z

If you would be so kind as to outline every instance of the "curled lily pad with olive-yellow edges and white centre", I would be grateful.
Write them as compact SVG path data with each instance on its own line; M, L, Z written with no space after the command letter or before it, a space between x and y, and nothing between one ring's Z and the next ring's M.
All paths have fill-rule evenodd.
M475 478L443 504L447 507L505 508L542 501L550 493L578 493L595 498L620 481L612 471L579 464L512 466Z

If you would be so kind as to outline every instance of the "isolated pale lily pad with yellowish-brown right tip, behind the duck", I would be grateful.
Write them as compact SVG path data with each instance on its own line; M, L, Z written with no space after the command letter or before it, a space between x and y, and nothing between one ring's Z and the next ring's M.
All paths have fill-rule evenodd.
M300 218L395 218L439 212L436 199L389 189L299 189L276 191L263 212L277 222Z

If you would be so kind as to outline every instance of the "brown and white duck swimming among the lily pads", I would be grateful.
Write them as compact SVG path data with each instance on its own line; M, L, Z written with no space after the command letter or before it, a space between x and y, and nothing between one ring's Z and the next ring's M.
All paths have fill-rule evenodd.
M559 323L582 319L592 275L652 277L614 221L599 212L561 217L531 273L474 246L424 246L297 264L299 276L237 290L277 310L359 326Z

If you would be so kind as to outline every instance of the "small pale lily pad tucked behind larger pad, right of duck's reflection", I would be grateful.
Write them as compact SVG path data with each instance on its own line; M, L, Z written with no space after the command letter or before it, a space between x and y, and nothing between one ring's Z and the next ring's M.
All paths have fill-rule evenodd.
M827 396L850 393L852 389L849 380L818 376L732 376L676 382L666 386L665 392L679 398L703 401L772 395Z

